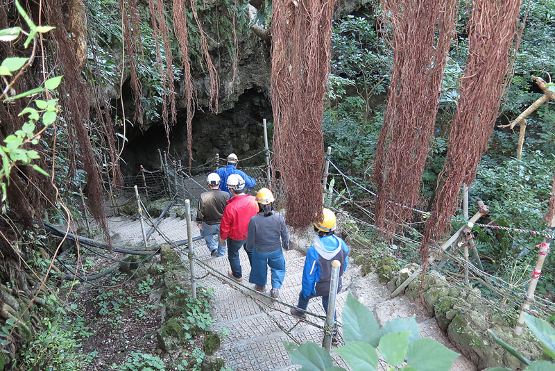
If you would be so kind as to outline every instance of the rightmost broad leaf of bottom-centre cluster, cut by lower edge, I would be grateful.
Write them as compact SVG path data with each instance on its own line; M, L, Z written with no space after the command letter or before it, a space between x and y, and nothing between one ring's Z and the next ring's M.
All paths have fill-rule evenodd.
M407 364L419 371L449 371L459 355L436 340L423 338L409 345Z

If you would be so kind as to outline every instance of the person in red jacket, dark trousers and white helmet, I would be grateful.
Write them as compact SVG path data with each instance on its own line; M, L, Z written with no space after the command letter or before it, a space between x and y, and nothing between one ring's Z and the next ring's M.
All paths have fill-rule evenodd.
M225 240L227 240L228 259L231 266L228 272L229 277L241 282L243 281L243 274L241 274L239 249L241 249L241 247L245 248L248 262L252 266L253 253L246 249L246 242L248 223L251 217L257 215L259 211L258 203L254 196L244 194L245 181L241 175L230 174L226 183L232 197L223 210L223 217L221 218L220 224L220 243L225 246Z

